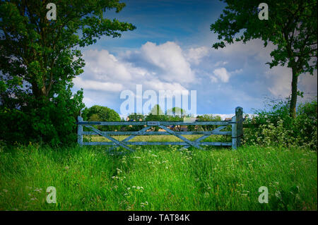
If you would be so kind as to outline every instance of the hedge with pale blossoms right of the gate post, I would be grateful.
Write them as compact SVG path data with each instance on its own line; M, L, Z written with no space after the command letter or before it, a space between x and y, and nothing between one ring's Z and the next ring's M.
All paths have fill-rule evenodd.
M296 118L288 114L288 101L271 101L269 106L245 120L243 144L298 146L317 151L317 100L300 104Z

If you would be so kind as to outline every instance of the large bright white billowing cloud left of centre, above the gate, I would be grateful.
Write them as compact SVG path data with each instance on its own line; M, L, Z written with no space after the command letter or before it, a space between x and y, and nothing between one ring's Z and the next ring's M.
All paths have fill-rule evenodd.
M109 51L87 50L83 75L74 79L74 85L85 90L120 92L135 90L179 90L194 81L194 71L179 45L174 42L154 44L147 42L141 49L114 56ZM134 59L138 59L138 63Z

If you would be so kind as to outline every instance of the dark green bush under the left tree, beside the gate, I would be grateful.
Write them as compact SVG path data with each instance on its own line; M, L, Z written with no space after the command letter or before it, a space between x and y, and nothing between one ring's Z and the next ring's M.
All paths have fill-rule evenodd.
M0 140L8 143L45 142L50 145L76 142L76 117L82 103L83 91L72 95L71 87L60 90L49 102L35 101L28 96L28 104L20 109L0 106Z

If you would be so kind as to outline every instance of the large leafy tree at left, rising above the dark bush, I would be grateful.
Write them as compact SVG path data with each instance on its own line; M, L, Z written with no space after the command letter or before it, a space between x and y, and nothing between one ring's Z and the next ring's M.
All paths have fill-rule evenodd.
M48 0L0 2L1 87L30 87L37 98L49 99L57 89L83 72L79 47L102 35L119 37L134 25L110 20L105 11L122 10L119 0L58 0L56 20L47 18ZM11 85L11 86L10 86Z

